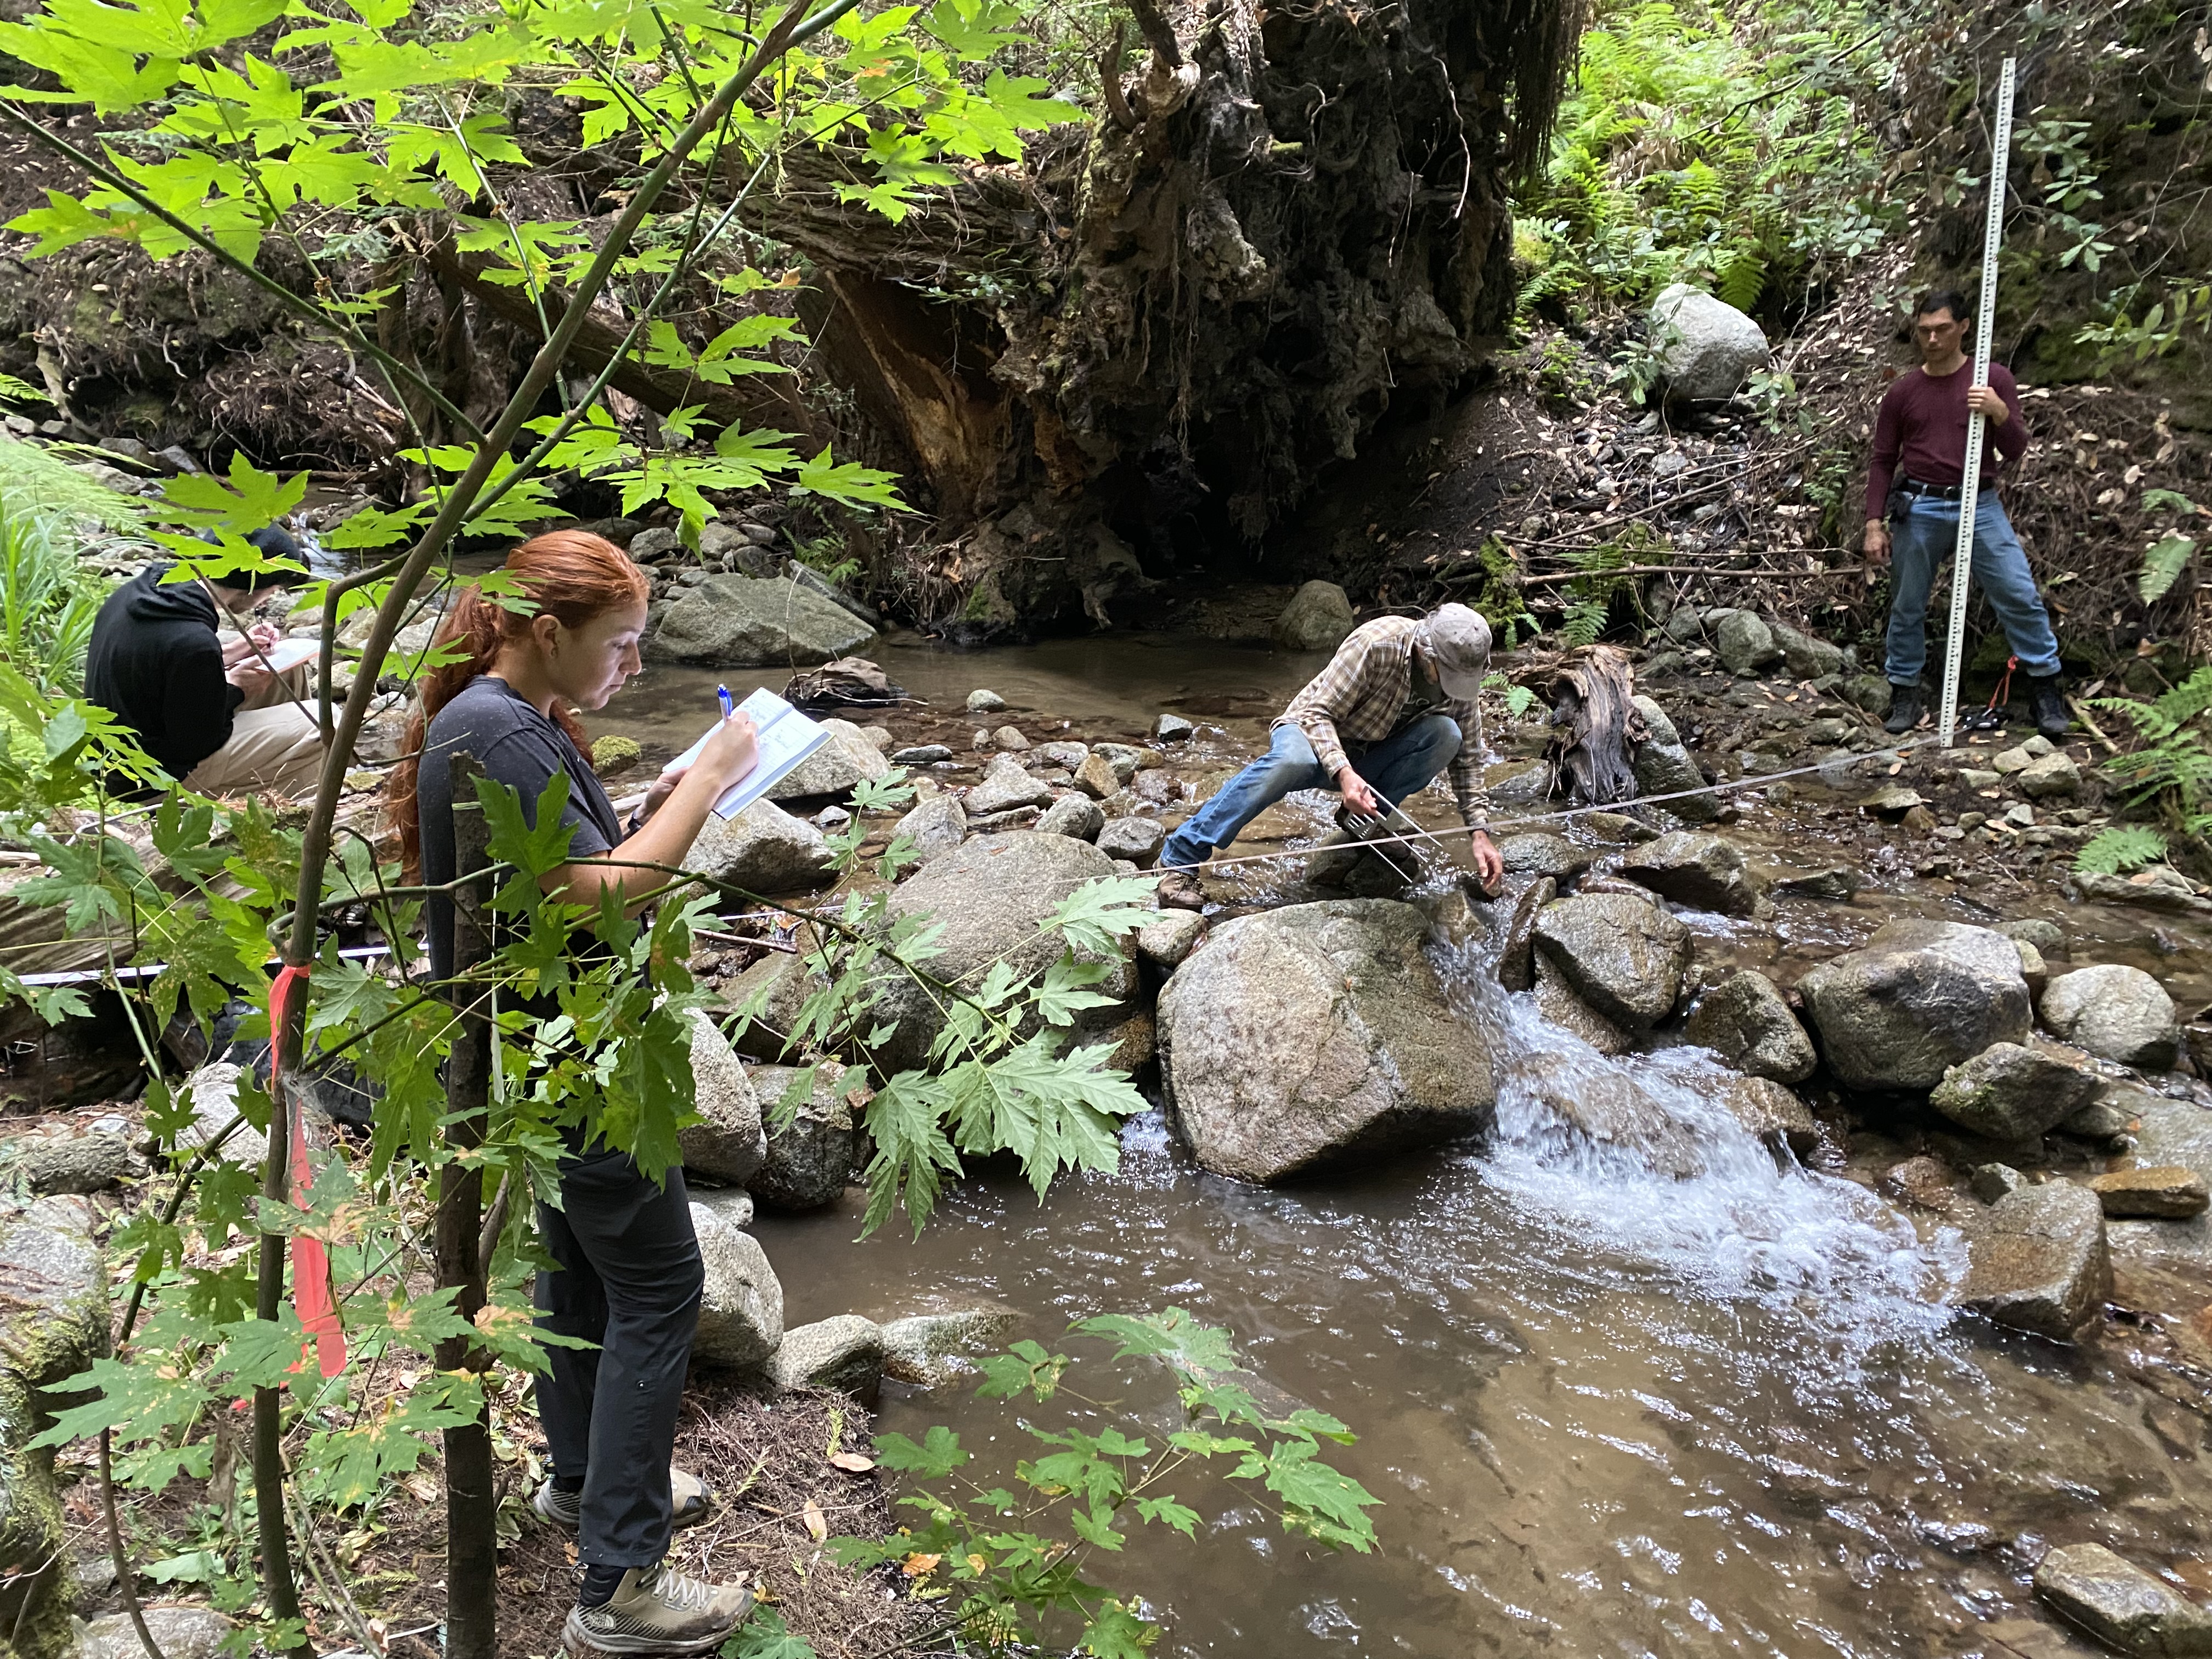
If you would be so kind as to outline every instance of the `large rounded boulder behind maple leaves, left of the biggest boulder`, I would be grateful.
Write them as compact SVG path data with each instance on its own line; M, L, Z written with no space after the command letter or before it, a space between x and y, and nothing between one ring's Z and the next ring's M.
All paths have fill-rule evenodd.
M1113 858L1088 841L1009 830L973 836L931 858L889 896L887 907L891 920L936 918L940 951L929 971L973 989L1000 960L1018 975L1042 973L1057 962L1066 942L1037 931L1040 922L1077 887L1113 874ZM1137 964L1126 940L1106 964L1106 978L1091 989L1113 1002L1075 1015L1071 1035L1077 1042L1110 1031L1130 1013ZM885 973L876 1018L891 1026L872 1055L883 1075L918 1068L945 1024L940 1006L896 971Z

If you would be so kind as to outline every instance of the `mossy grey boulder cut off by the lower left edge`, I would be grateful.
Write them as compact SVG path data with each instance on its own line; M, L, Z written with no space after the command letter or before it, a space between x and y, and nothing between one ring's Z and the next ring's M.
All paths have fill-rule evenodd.
M53 1449L27 1442L49 1422L46 1389L108 1352L100 1214L84 1197L0 1208L0 1621L9 1652L62 1659L75 1648L73 1586Z

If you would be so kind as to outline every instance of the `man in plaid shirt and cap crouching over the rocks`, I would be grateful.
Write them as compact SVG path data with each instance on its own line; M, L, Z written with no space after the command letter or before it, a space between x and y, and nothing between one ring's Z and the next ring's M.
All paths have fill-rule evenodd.
M1199 865L1292 790L1336 790L1345 805L1323 845L1358 841L1345 812L1380 816L1451 768L1451 792L1473 836L1475 874L1491 889L1504 860L1491 845L1482 792L1482 714L1491 624L1464 604L1427 617L1376 617L1354 628L1329 666L1290 699L1263 757L1168 836L1164 865ZM1197 876L1172 869L1159 902L1206 905Z

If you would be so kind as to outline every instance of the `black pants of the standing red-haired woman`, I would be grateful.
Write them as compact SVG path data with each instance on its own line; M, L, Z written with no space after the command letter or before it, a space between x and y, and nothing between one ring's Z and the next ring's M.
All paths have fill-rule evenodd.
M566 1210L538 1206L560 1272L538 1274L538 1323L588 1347L553 1347L538 1416L562 1482L582 1478L584 1566L650 1566L668 1553L668 1458L706 1267L684 1170L666 1186L628 1152L562 1164Z

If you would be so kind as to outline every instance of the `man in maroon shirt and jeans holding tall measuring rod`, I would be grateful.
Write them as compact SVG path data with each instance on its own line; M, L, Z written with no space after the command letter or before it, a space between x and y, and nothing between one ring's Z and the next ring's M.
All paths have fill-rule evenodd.
M1920 723L1920 670L1927 664L1929 588L1936 566L1958 546L1960 482L1966 478L1966 416L1982 414L1982 487L1973 509L1973 582L1989 595L2004 637L2028 670L2028 712L2035 730L2066 734L2066 697L2059 690L2059 641L2035 591L2028 555L1997 500L1997 467L2028 447L2020 420L2020 389L2002 363L1989 365L1989 385L1969 385L1966 327L1973 307L1953 288L1920 296L1913 338L1920 367L1900 374L1882 394L1874 420L1874 469L1867 478L1867 564L1889 573L1889 719L1885 732Z

